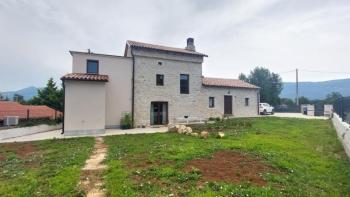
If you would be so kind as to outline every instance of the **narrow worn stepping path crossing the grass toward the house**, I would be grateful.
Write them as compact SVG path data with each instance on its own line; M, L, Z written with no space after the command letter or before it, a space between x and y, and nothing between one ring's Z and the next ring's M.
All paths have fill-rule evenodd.
M95 138L95 146L92 155L85 162L80 177L80 187L87 197L104 197L106 189L103 181L103 171L107 166L103 164L107 154L107 146L102 137Z

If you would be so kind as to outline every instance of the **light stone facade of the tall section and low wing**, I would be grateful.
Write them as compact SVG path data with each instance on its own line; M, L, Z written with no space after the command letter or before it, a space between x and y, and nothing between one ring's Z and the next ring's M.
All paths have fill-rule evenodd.
M149 126L151 103L168 103L168 122L188 116L208 119L224 115L224 95L232 95L232 112L236 117L258 115L258 89L204 87L202 57L137 51L135 56L134 126ZM161 63L159 63L161 62ZM156 75L164 75L164 86L156 85ZM189 94L180 94L180 74L189 75ZM209 108L209 97L215 107ZM245 98L249 105L245 106Z

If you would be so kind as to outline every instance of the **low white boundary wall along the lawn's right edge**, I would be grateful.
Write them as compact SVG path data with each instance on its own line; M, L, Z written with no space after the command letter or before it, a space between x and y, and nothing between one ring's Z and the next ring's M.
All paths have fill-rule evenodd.
M338 138L342 142L345 152L350 158L350 125L343 122L343 120L336 113L333 113L332 122L337 130Z

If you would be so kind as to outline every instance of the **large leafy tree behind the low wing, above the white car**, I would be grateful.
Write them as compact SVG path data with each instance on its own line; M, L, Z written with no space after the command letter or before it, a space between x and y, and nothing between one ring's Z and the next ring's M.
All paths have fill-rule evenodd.
M239 79L259 86L260 101L272 105L280 102L279 95L283 89L282 79L276 73L271 73L267 68L256 67L249 76L239 75Z

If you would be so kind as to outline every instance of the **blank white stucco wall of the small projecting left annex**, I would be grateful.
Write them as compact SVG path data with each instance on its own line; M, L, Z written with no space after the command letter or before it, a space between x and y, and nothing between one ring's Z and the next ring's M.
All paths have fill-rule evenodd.
M65 81L65 135L101 133L105 129L105 82Z

